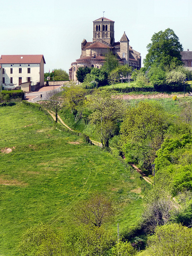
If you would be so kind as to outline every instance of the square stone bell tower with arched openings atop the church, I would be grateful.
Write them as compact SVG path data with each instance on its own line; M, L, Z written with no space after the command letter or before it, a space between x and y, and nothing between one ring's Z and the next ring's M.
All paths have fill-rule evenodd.
M93 21L93 42L101 38L111 46L114 44L114 21L101 17Z

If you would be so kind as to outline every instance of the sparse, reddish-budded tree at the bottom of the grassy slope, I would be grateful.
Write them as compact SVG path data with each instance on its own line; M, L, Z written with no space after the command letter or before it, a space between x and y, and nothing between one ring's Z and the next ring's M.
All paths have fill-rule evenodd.
M73 211L73 220L78 225L86 224L100 228L109 222L114 215L114 208L110 198L103 194L92 194L89 199L81 201Z

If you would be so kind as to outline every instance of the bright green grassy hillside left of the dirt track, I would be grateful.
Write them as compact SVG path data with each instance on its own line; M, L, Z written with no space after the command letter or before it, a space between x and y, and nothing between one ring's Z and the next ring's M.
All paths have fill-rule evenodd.
M34 224L65 225L71 208L94 190L114 198L114 228L134 228L141 191L118 160L22 104L0 108L0 120L1 256L18 255L21 234Z

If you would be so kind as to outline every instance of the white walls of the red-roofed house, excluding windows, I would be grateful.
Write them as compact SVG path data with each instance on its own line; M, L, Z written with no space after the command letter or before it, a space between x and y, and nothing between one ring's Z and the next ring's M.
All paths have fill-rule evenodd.
M43 60L42 60L43 61ZM41 62L42 66L42 62ZM22 82L27 82L28 77L32 84L36 84L40 82L40 64L2 64L2 68L4 68L4 74L1 76L1 85L5 88L16 88L19 85L19 77L22 77ZM12 74L11 74L12 68ZM19 68L22 68L22 73L19 73ZM30 68L30 73L28 73L28 68ZM2 71L1 71L2 72ZM44 66L41 67L41 73L43 73L43 81L41 81L42 85L44 84ZM5 78L5 84L2 82L2 78ZM10 84L10 78L13 78L13 83Z

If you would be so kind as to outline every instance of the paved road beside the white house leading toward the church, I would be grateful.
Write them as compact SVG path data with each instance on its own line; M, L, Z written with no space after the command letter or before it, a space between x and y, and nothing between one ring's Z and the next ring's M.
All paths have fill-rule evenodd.
M55 86L44 86L40 89L36 90L35 92L28 92L26 93L26 100L29 102L36 102L38 100L45 100L47 92L52 91L53 89L56 90L60 88L62 85L55 85ZM42 99L40 98L40 94L42 94Z

